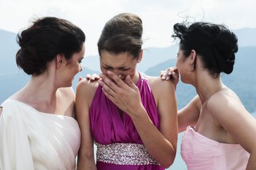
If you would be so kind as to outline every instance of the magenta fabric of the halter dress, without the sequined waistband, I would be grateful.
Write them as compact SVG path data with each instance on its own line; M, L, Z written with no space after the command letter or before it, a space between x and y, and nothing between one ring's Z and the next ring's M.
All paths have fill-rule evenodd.
M142 104L147 110L153 124L159 128L158 111L155 104L153 93L149 87L145 75L140 74L136 86L140 90ZM123 113L120 117L118 107L109 100L101 90L101 86L95 92L89 111L91 122L92 135L94 140L99 144L114 144L114 143L134 143L143 144L138 135L133 120ZM159 165L116 165L97 162L97 169L164 169Z

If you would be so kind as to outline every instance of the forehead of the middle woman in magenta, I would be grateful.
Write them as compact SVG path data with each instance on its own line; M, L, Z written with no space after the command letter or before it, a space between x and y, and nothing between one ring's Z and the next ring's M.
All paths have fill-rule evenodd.
M129 52L116 54L116 53L103 51L101 52L101 57L100 57L101 64L112 66L113 68L120 67L120 66L127 66L131 64L134 60L136 59Z

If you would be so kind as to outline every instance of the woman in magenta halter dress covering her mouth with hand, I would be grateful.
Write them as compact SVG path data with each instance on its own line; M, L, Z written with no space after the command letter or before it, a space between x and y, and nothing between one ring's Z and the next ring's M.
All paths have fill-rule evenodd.
M136 71L143 53L141 19L114 16L103 28L98 50L101 80L82 80L76 91L78 169L169 167L178 131L175 86Z

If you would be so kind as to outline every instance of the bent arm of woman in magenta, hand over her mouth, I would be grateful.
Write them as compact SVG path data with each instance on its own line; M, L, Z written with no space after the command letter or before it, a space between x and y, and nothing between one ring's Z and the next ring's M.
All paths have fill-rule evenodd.
M127 84L116 75L109 75L114 82L103 75L103 86L105 95L118 106L118 108L129 114L134 122L144 146L150 155L162 166L169 167L173 164L176 155L177 139L177 108L175 98L175 87L172 82L162 81L159 78L158 88L164 88L165 94L158 99L158 111L160 114L160 131L155 127L147 111L140 101L140 92L133 84L129 76Z

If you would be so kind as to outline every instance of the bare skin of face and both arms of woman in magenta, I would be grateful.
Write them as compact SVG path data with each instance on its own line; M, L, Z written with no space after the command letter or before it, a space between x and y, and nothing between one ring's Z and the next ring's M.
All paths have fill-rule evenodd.
M133 55L127 52L114 54L103 51L100 57L101 79L98 82L82 80L78 84L76 113L81 128L78 169L96 169L89 108L99 84L105 95L131 117L150 155L164 167L173 164L178 132L175 86L172 82L162 81L160 77L148 77L160 116L158 130L142 106L140 93L135 86L139 79L136 64L141 59L142 52L138 59L134 59ZM162 93L162 89L167 92Z

